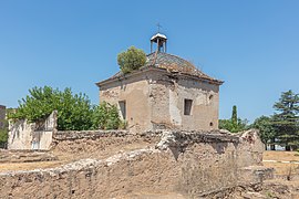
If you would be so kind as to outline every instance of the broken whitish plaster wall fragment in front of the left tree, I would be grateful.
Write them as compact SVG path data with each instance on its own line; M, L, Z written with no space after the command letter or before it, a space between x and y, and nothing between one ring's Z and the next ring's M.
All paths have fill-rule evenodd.
M44 149L52 144L52 136L56 128L56 112L44 122L28 123L18 121L9 127L8 149Z

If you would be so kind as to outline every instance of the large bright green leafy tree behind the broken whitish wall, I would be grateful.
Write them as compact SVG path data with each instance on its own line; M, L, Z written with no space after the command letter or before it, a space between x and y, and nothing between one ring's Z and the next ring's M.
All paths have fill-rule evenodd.
M71 88L61 92L50 86L33 87L29 93L30 95L19 101L17 112L10 113L9 118L39 122L56 109L58 128L61 130L83 130L92 126L92 106L85 94L73 95Z

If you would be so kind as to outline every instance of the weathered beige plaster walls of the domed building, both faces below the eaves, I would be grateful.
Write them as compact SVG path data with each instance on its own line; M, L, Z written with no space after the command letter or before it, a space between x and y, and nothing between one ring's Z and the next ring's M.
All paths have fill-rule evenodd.
M184 115L185 98L193 101L190 115ZM117 106L125 101L133 132L218 128L219 86L166 71L147 71L102 85L100 101Z

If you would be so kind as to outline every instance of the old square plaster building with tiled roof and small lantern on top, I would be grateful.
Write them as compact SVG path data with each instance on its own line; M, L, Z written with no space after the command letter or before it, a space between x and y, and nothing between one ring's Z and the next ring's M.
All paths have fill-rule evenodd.
M217 129L223 82L166 53L166 35L155 34L144 66L96 83L100 102L117 105L134 130Z

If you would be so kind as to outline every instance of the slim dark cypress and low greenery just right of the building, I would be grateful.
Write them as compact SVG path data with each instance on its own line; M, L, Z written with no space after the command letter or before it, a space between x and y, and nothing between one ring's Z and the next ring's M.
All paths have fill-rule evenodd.
M231 133L238 133L248 129L247 119L237 117L237 106L233 106L233 113L230 119L219 119L219 128L227 129Z

